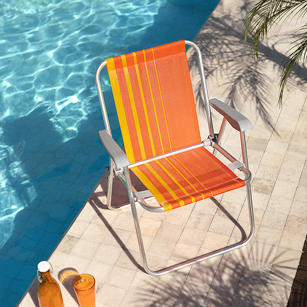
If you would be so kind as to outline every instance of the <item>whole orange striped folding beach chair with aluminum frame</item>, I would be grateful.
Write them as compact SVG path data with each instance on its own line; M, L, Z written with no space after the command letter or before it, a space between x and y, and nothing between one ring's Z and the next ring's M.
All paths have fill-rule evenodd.
M198 55L209 137L202 141L186 55L186 45ZM112 85L115 105L124 141L125 152L113 140L100 84L100 72L106 65ZM98 135L109 153L107 207L118 210L131 207L138 236L142 263L147 273L162 275L184 268L246 245L254 233L254 217L248 170L245 130L250 121L227 104L208 98L201 51L195 43L181 40L167 45L108 58L96 71L96 86L105 130ZM214 134L210 107L224 116L220 133ZM226 121L239 131L243 163L237 161L219 141ZM212 146L231 163L226 166L205 147ZM233 172L245 174L240 179ZM136 191L131 185L129 169L148 191ZM130 203L114 207L111 204L113 177L127 187ZM151 271L144 251L136 203L152 212L173 210L212 196L246 186L251 224L250 234L239 243L226 246L180 264ZM154 197L159 206L146 203Z

